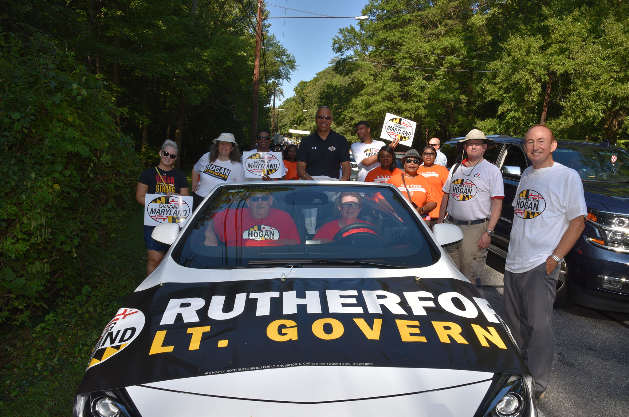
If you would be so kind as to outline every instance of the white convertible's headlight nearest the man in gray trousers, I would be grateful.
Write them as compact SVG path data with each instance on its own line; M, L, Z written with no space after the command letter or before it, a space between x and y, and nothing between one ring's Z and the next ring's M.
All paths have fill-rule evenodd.
M474 417L532 417L533 378L528 375L495 374Z

